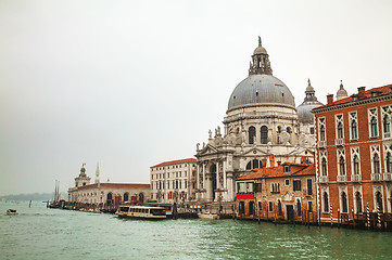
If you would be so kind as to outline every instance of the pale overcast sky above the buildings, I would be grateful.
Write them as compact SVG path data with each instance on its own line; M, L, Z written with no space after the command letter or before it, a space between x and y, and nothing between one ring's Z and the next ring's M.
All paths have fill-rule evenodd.
M149 183L226 115L262 37L303 102L392 83L392 1L0 1L0 195Z

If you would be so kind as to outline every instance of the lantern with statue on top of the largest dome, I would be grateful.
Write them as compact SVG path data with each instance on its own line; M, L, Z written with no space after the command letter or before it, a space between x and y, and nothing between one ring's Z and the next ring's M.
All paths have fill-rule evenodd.
M267 50L262 46L262 38L258 36L258 47L253 51L249 75L267 74L273 75Z

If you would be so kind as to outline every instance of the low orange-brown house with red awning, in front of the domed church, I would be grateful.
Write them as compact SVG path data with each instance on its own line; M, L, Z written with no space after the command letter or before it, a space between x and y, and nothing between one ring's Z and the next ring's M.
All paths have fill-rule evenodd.
M239 219L317 221L313 164L284 162L236 179Z

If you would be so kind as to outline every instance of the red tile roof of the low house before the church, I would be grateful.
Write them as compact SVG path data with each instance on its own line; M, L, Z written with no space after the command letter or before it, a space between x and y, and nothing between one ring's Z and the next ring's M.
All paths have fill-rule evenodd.
M290 166L290 172L283 172L284 166ZM254 169L252 173L237 178L236 181L255 180L255 179L264 179L264 178L279 178L279 177L288 177L288 176L298 177L298 176L315 176L315 174L316 174L316 169L314 164L301 165L301 164L286 162L278 167Z

